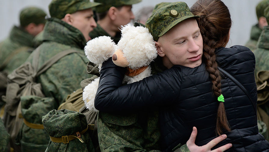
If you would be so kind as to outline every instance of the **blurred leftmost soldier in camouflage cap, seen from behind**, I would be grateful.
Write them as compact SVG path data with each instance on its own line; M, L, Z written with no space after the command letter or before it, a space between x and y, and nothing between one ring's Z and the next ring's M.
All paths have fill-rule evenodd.
M20 26L13 26L7 39L0 43L0 107L4 104L6 76L19 67L34 49L33 39L43 30L47 14L36 7L20 11Z

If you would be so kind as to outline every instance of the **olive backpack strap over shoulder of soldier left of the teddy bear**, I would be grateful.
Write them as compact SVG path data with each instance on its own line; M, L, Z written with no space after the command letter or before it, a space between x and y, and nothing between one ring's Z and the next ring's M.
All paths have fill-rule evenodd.
M61 51L60 53L54 55L52 58L47 60L36 72L36 76L39 76L41 73L45 72L48 68L50 68L55 62L60 60L62 57L71 54L71 53L80 53L83 54L80 51L75 51L75 50L66 50L66 51Z

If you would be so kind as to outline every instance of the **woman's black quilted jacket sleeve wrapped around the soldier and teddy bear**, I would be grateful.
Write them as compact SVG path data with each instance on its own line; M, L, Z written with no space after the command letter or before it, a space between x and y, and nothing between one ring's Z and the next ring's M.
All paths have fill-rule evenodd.
M124 73L125 68L116 66L111 58L102 64L94 101L97 110L134 111L177 101L182 76L179 66L122 86Z

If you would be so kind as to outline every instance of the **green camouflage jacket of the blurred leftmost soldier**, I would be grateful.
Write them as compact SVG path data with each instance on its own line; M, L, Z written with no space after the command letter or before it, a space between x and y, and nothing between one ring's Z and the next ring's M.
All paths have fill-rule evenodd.
M29 57L33 51L33 38L24 29L14 26L8 38L0 43L0 107L5 103L1 97L5 95L7 75Z

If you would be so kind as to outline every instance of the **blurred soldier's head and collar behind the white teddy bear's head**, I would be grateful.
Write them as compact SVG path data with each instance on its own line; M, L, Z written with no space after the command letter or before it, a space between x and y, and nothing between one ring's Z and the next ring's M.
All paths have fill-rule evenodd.
M110 36L117 44L121 38L120 26L126 25L134 15L132 5L142 0L94 0L94 2L102 3L96 7L97 27L90 32L90 37Z

